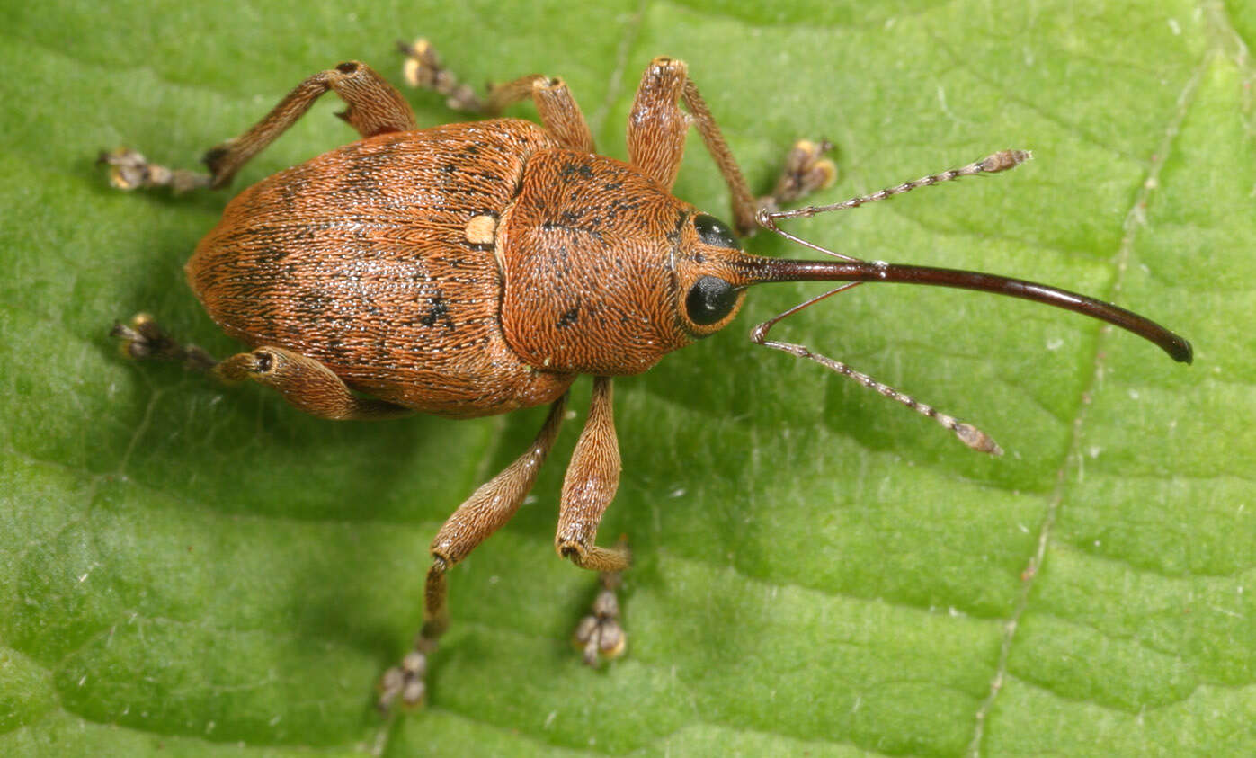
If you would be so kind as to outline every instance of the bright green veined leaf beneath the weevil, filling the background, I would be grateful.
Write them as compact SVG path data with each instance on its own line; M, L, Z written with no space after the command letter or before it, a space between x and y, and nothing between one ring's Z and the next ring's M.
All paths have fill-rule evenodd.
M9 5L0 753L1256 753L1250 6ZM93 158L192 166L339 60L399 82L393 40L417 34L471 83L563 75L620 157L638 72L683 58L759 189L799 137L838 146L830 201L1034 150L790 229L1112 298L1196 363L961 292L862 287L779 327L977 424L1009 450L986 459L751 346L820 290L754 292L734 328L617 382L602 541L636 553L627 657L590 671L568 641L594 593L551 548L578 419L451 573L430 706L381 720L427 543L543 411L333 424L123 361L108 328L141 309L234 349L181 272L227 197L116 192ZM409 97L422 123L458 118ZM332 99L236 186L350 141ZM676 191L725 214L696 138Z

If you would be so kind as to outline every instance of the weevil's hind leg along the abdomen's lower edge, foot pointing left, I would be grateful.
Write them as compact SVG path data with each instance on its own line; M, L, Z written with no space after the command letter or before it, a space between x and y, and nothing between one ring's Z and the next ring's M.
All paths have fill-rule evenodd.
M383 400L358 397L327 366L280 347L260 347L219 362L195 344L180 344L144 313L134 317L129 326L117 324L113 336L122 339L123 353L131 358L180 361L190 370L232 383L254 380L274 387L284 400L320 419L391 419L411 412Z

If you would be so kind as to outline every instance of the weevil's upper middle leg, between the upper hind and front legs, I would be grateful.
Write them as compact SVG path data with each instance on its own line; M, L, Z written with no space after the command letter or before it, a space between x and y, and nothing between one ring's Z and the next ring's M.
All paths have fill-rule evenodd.
M536 103L545 129L563 147L583 152L595 151L589 124L585 123L580 107L561 79L529 74L491 87L489 97L480 98L474 89L460 83L457 77L441 64L436 50L426 39L420 39L414 44L398 43L397 47L406 54L404 74L409 85L443 94L446 104L455 111L499 116L509 106L530 97Z

